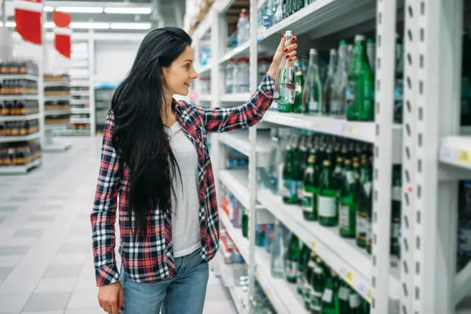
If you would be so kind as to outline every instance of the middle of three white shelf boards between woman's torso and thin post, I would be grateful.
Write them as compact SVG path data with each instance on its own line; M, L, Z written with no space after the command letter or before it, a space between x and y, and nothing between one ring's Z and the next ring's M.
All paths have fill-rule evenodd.
M250 208L248 169L220 170L219 179L245 208Z

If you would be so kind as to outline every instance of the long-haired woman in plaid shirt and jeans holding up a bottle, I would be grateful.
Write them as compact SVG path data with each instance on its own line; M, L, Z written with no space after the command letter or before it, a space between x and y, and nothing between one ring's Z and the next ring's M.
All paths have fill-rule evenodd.
M184 30L159 28L145 36L113 96L91 213L98 302L105 312L202 313L208 261L219 241L206 134L251 127L263 117L283 51L296 59L295 40L285 45L282 39L246 104L219 109L172 98L188 95L197 78ZM114 255L118 203L120 272Z

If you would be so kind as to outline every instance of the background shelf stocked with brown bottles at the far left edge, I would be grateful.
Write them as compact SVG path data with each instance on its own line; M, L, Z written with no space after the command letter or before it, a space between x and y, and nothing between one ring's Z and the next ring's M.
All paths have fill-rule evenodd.
M41 165L37 64L0 62L0 174Z

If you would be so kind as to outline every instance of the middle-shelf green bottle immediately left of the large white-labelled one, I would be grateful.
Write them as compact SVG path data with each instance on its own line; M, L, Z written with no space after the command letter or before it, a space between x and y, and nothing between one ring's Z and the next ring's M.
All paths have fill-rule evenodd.
M318 175L316 170L316 156L315 154L311 154L308 159L308 167L305 169L303 180L303 216L304 219L308 221L317 220Z

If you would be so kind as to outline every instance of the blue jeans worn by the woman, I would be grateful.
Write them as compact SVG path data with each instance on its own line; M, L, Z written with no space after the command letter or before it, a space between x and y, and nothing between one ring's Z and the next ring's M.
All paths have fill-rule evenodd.
M136 282L121 266L123 314L202 314L209 268L199 250L175 259L176 278Z

